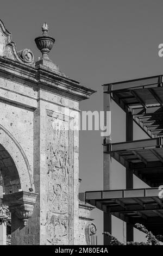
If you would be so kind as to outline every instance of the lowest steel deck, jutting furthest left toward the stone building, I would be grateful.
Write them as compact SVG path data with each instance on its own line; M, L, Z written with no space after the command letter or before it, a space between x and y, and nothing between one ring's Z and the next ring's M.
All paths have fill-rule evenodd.
M154 234L163 234L163 199L158 188L89 191L79 199L128 223L142 223Z

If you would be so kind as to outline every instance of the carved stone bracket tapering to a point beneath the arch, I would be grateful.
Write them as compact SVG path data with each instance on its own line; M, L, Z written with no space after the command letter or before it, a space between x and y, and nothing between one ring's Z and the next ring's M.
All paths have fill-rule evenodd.
M3 195L3 204L9 206L11 212L15 212L17 217L22 220L23 225L27 225L28 218L33 214L37 194L19 191Z

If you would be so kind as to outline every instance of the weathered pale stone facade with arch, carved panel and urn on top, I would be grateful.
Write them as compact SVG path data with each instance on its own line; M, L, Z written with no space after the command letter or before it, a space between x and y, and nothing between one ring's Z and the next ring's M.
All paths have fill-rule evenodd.
M77 128L79 102L94 91L49 59L54 41L44 23L35 39L42 58L34 62L0 21L0 168L12 245L80 245L92 234L92 208L78 200Z

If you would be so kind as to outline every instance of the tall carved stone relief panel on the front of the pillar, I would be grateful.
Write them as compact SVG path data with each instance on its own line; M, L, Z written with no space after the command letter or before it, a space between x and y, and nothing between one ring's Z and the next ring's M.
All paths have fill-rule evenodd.
M47 243L73 239L73 119L52 111L46 117Z

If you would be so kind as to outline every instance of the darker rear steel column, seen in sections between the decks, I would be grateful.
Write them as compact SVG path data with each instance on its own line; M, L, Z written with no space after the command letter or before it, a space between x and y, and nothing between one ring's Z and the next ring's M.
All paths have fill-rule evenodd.
M126 141L133 141L133 117L132 113L126 114ZM126 188L133 188L133 170L126 168ZM133 224L126 223L126 241L134 241Z

